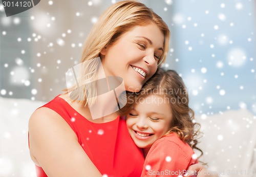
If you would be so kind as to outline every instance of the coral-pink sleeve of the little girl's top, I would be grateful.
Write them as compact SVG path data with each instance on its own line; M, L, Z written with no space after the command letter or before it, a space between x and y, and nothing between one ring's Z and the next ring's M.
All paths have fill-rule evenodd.
M179 176L191 164L190 152L184 151L185 144L161 138L148 152L141 176Z

